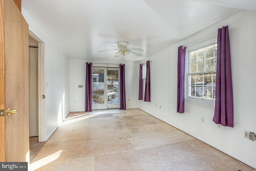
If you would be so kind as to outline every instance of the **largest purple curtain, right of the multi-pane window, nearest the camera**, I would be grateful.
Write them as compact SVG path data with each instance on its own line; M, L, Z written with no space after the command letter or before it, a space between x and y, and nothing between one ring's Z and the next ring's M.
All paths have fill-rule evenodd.
M215 109L213 121L223 126L233 125L233 88L228 26L218 29Z

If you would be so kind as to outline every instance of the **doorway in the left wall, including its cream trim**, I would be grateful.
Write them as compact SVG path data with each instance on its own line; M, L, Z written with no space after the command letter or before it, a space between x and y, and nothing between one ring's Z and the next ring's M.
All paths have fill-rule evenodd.
M30 48L30 137L38 136L38 142L46 141L45 133L45 74L44 42L29 30ZM34 99L34 100L33 100Z

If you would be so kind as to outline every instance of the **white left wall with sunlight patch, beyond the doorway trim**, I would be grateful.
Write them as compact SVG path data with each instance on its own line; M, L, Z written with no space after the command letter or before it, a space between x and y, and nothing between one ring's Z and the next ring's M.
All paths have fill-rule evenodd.
M52 38L22 8L22 15L29 30L44 42L45 81L45 137L47 140L68 115L69 107L69 58ZM46 85L46 83L45 83Z

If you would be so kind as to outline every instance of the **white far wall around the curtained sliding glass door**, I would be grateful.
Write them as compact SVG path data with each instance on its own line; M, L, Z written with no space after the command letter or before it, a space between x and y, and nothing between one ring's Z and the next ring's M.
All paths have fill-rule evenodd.
M120 62L97 61L97 60L70 60L70 111L84 111L85 96L85 70L86 62L95 63L97 66L104 64L120 64ZM126 82L126 109L138 108L138 69L135 62L121 62L125 64L125 82ZM111 66L111 65L110 65ZM113 66L113 65L112 65ZM114 67L118 67L114 65ZM78 88L78 85L84 85ZM129 101L130 99L130 101ZM76 100L76 102L74 102Z

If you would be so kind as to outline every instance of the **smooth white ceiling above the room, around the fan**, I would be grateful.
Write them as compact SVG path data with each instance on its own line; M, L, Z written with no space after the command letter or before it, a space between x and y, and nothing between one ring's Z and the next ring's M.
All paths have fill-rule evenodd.
M118 41L142 48L146 58L240 10L256 11L255 0L22 0L37 24L72 59L114 58Z

